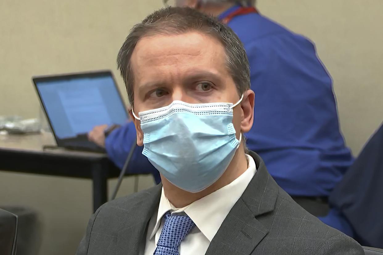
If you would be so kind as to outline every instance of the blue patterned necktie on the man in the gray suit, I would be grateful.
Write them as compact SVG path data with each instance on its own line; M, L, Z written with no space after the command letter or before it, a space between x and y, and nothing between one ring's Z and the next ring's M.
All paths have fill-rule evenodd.
M179 255L178 246L194 226L189 216L171 215L167 212L153 255Z

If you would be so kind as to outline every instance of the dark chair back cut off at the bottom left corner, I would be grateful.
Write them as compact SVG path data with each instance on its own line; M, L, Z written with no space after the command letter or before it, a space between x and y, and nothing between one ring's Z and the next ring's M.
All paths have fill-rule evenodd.
M17 243L17 216L0 209L0 251L4 255L15 255Z

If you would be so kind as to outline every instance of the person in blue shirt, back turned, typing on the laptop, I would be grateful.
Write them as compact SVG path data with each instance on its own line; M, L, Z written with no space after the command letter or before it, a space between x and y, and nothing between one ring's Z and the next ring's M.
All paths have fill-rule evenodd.
M254 2L176 0L179 6L217 16L245 46L255 91L248 148L259 153L278 185L293 198L326 200L354 161L340 133L331 76L311 41L258 13ZM96 127L90 140L105 145L110 159L122 167L136 138L133 122L106 139L105 128ZM149 171L160 182L158 171L141 152L142 147L135 149L128 172ZM353 235L339 211L332 209L330 214L327 224L333 221L340 231Z

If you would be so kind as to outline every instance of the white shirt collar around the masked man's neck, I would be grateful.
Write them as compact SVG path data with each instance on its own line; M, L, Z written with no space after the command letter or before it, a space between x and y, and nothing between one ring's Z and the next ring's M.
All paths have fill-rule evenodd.
M216 190L215 192L201 198L184 208L175 208L165 197L164 189L162 188L157 221L151 232L150 239L155 236L158 231L162 217L167 211L173 213L185 213L196 224L198 229L211 242L213 237L218 232L219 227L228 216L231 208L241 198L250 180L257 172L254 159L246 155L249 163L247 170L230 184Z

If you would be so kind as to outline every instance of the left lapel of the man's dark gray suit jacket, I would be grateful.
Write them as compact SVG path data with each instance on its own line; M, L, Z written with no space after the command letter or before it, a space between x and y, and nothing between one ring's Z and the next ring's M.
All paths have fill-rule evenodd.
M144 193L138 199L132 199L134 205L127 206L131 209L126 211L127 220L121 222L121 228L117 233L116 255L139 255L140 249L145 245L149 220L158 208L161 190L162 185L157 185L149 193Z

